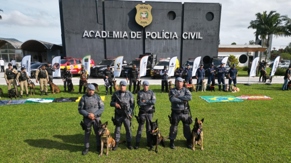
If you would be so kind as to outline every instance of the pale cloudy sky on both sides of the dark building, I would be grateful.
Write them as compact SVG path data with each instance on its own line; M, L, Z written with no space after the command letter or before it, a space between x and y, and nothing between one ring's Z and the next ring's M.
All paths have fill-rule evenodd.
M155 1L155 0L151 0ZM247 29L255 14L276 10L291 17L291 0L158 0L179 2L214 2L222 4L221 44L248 44L255 40L254 30ZM62 44L58 0L1 0L0 37L28 39ZM291 42L289 38L274 38L272 47Z

